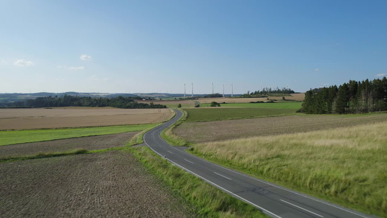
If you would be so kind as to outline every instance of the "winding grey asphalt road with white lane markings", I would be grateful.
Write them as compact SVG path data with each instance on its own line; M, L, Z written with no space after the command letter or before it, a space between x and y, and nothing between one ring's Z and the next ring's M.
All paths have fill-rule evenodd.
M181 111L176 109L174 111L176 116L163 125L148 131L144 135L144 142L160 156L166 157L171 163L198 176L211 185L252 204L267 215L276 218L370 217L224 168L176 149L164 142L159 135L161 131L183 116Z

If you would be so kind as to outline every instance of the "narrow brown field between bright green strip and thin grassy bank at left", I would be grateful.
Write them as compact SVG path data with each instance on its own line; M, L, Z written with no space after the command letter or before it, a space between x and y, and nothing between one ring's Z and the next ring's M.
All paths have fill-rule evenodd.
M77 149L93 151L113 147L122 147L127 144L130 138L139 132L140 131L133 131L109 135L66 138L44 142L3 145L0 146L0 158L7 156L28 156L40 152L65 152Z

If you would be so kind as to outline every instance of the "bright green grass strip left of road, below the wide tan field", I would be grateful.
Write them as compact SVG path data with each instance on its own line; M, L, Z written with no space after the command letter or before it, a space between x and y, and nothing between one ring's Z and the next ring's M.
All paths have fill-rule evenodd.
M93 128L57 129L57 130L20 130L0 131L0 145L40 142L62 138L76 138L91 135L106 135L130 131L146 130L157 124L104 126Z

